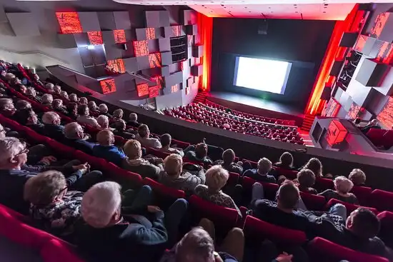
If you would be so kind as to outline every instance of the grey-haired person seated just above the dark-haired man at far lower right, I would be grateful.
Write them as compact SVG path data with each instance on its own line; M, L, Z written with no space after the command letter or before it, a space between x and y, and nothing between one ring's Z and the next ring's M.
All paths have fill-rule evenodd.
M337 176L337 178L334 178L333 183L335 190L327 189L322 193L319 193L318 196L324 196L324 198L326 198L326 201L335 198L339 201L359 205L357 197L353 193L349 193L349 191L351 191L352 187L354 186L354 183L352 183L352 181L350 181L345 176Z

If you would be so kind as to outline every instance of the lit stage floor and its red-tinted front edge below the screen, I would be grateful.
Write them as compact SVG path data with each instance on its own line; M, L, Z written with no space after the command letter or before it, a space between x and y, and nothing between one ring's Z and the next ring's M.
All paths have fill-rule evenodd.
M205 96L209 101L244 113L294 120L297 126L303 123L303 111L287 104L229 92L209 92Z

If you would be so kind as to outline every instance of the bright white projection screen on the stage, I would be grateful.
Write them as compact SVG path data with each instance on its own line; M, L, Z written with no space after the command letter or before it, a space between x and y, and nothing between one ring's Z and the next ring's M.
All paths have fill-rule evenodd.
M284 94L292 63L237 56L234 86Z

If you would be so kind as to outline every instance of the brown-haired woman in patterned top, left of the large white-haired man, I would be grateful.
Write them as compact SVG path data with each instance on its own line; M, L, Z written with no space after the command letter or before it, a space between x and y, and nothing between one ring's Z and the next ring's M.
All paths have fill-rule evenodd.
M56 236L74 232L81 217L82 196L82 192L67 191L66 178L59 171L39 173L24 185L24 199L30 203L31 216Z

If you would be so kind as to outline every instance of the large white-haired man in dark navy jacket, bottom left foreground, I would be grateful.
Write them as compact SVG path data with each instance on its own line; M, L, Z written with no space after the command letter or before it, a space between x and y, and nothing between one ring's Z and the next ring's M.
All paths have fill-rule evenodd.
M154 261L176 242L187 201L177 199L164 213L149 206L152 191L142 186L131 206L121 208L121 186L106 181L92 186L82 198L85 225L77 232L76 243L92 261ZM143 215L142 215L143 214Z

